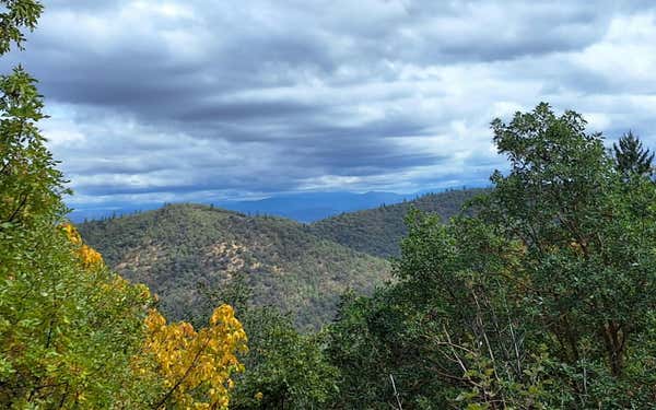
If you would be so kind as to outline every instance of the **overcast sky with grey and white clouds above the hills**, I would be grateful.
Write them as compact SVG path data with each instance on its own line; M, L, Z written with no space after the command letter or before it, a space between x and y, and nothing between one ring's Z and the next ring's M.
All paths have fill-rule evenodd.
M3 69L73 207L411 192L485 184L489 122L540 101L656 145L653 3L46 0Z

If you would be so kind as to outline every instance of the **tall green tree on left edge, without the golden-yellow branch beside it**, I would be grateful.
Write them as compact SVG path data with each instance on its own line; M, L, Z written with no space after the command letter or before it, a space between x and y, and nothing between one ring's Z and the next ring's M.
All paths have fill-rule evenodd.
M5 54L43 7L1 3ZM35 84L20 67L0 78L0 407L137 406L130 363L150 298L59 227L67 189L37 128Z

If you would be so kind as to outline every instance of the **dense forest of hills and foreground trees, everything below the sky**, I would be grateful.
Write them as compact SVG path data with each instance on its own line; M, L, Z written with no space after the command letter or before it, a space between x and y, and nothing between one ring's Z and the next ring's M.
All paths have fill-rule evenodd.
M43 7L2 4L5 55ZM2 408L654 408L654 155L632 133L609 150L579 114L546 103L494 119L508 171L475 196L448 194L468 199L448 220L395 211L408 212L390 262L362 253L394 255L387 239L363 245L329 221L200 206L85 226L130 281L67 221L70 192L38 129L43 97L20 67L0 78L0 113ZM283 256L289 282L258 270ZM367 288L387 263L391 279ZM216 270L231 280L209 280ZM206 276L180 289L206 292L207 308L176 311L188 294L166 302L178 283L166 274L196 272ZM280 312L342 290L317 331Z

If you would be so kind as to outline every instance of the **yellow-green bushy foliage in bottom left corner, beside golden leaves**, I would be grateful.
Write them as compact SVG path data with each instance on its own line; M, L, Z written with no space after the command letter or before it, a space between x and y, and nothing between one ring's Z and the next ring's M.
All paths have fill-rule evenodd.
M0 402L107 407L133 378L147 290L50 224L0 235Z

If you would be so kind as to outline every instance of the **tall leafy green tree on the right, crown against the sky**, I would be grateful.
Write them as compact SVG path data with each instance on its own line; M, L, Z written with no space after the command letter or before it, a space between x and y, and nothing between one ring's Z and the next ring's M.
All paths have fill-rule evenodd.
M557 117L541 104L492 128L512 168L493 175L483 216L526 248L529 294L540 300L561 358L581 360L582 339L591 338L595 354L621 377L654 307L656 190L643 179L625 183L601 136L585 133L574 112Z

